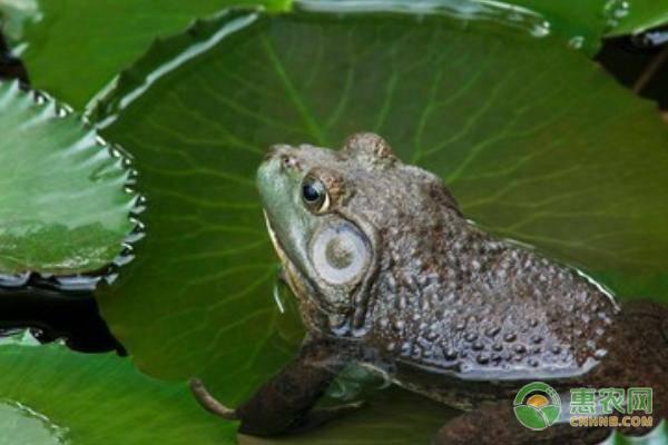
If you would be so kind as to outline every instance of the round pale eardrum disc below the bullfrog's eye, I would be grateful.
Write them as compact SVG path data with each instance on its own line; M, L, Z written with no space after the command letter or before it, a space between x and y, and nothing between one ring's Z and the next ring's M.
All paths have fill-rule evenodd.
M311 244L317 274L333 285L356 283L371 261L369 240L351 222L321 227Z

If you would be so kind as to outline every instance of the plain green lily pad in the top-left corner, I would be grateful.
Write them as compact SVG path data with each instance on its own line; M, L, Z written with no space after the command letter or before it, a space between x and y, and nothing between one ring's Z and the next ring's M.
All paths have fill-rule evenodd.
M33 87L81 109L159 37L230 4L288 0L0 0ZM32 18L28 17L32 12ZM39 18L39 19L37 19ZM21 31L22 39L19 39Z

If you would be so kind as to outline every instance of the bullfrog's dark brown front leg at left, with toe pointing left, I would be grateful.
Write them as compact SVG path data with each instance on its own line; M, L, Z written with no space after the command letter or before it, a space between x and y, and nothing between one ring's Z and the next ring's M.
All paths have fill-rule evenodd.
M295 360L236 409L216 400L198 379L190 382L190 388L205 409L240 421L240 433L271 436L315 426L335 415L336 409L312 408L346 363L347 355L335 343L308 340Z

